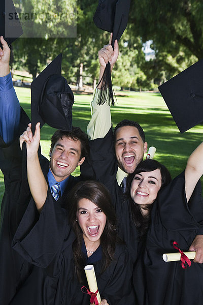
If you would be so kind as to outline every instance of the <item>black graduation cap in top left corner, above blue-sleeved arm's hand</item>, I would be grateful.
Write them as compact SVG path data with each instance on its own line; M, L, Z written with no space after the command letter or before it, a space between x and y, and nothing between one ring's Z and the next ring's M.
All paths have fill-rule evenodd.
M0 36L10 45L23 34L22 26L12 0L0 0ZM2 44L0 43L2 48Z

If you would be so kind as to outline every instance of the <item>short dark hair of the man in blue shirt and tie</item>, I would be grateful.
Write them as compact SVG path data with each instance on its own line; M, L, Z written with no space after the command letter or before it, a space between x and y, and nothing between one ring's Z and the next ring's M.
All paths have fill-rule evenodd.
M62 139L62 137L71 138L74 141L79 140L81 142L81 156L80 159L83 157L87 157L89 155L89 141L86 133L80 129L80 127L72 127L71 131L65 131L65 130L57 130L53 136L51 137L51 147L50 152L52 153L52 150L54 148L54 145L59 139Z

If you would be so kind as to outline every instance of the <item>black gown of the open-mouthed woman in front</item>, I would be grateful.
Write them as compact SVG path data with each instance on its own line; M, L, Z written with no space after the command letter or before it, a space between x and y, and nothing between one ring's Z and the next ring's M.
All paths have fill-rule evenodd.
M50 196L48 194L37 223L35 204L30 201L15 234L14 249L38 267L41 278L38 277L36 283L36 277L32 278L31 274L11 305L19 304L19 301L21 305L89 305L90 296L81 292L82 285L74 277L72 242L75 236L67 223L65 210L50 200ZM126 246L116 246L114 260L104 273L100 274L101 260L93 262L93 265L101 298L106 298L110 305L128 301L132 264ZM134 302L128 301L128 304Z

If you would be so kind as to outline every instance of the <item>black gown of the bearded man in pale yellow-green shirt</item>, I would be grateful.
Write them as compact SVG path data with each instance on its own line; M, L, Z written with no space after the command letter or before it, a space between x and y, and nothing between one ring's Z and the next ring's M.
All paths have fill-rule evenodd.
M86 179L92 178L102 182L110 191L118 220L118 234L125 241L130 257L135 262L141 247L139 232L131 220L129 202L116 179L118 165L112 127L104 138L89 141L89 146L90 154L81 165L81 174Z

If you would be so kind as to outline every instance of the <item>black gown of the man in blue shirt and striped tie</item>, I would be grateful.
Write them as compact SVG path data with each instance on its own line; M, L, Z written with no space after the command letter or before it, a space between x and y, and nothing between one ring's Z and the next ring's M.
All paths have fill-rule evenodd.
M0 227L0 304L3 305L9 304L32 269L32 265L28 264L11 246L16 229L31 198L25 167L22 170L22 153L19 145L19 136L26 130L29 122L28 116L21 108L20 127L16 132L16 140L8 146L0 137L0 168L5 181ZM40 150L39 159L46 176L49 161L40 154ZM26 164L26 160L24 162ZM77 178L70 176L65 192L77 181ZM36 219L38 215L37 212Z

